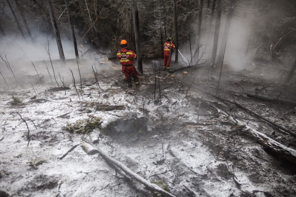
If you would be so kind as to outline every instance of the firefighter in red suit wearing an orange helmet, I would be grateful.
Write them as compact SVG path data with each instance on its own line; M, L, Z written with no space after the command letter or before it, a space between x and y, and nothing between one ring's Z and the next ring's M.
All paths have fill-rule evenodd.
M139 86L140 83L138 73L132 60L136 58L137 55L127 48L126 40L121 40L120 45L122 48L120 51L117 52L117 59L120 60L120 64L122 65L122 72L125 76L125 80L128 83L128 87L133 86L130 76L134 78L135 85Z

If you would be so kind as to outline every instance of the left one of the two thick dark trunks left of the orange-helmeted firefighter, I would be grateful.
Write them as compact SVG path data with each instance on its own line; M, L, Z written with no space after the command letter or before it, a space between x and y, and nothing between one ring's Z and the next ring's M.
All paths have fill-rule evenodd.
M53 28L53 30L55 32L55 39L56 39L56 43L58 45L60 59L62 60L63 63L65 63L66 61L65 61L65 55L64 55L64 51L63 51L61 37L60 37L60 32L58 30L58 26L57 26L56 21L55 21L55 15L53 13L51 1L50 0L46 0L46 2L47 2L47 6L48 6L48 11L49 11L49 15L50 15L50 20L51 20L52 28Z

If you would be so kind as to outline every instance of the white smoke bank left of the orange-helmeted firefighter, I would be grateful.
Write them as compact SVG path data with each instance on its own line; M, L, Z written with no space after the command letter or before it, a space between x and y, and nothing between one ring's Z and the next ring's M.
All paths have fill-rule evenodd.
M49 52L51 55L51 60L54 66L55 71L55 77L57 78L57 81L61 83L60 77L58 73L62 77L64 77L65 83L72 83L72 74L69 70L70 69L74 73L74 77L76 80L76 83L80 83L80 77L78 72L78 66L75 62L75 52L73 43L71 41L62 41L64 55L66 58L66 65L62 65L62 62L59 61L60 56L56 44L55 38L48 38L49 41ZM23 40L22 38L15 39L11 37L6 37L4 39L0 40L0 50L1 53L3 53L3 58L5 59L4 53L6 54L6 58L10 64L11 70L14 72L14 75L16 76L16 79L19 84L22 83L29 83L29 82L37 82L39 81L39 78L31 64L31 61L34 63L36 70L39 74L42 74L44 76L44 80L47 82L50 82L50 77L48 74L48 71L46 69L46 65L49 68L49 72L51 74L52 80L53 78L53 70L51 67L50 59L47 54L48 49L48 41L47 37L40 36L35 38L35 42L32 43L29 40ZM96 52L89 50L86 54L84 54L90 46L78 46L79 54L80 54L80 60L79 60L79 68L80 68L80 74L82 81L84 81L84 78L94 78L94 74L92 71L93 69L96 71L96 68L98 70L98 73L104 70L109 69L120 69L119 64L114 64L113 62L109 61L106 62L105 58L102 56L102 54L97 54ZM81 58L81 54L84 54ZM46 65L44 64L43 60L45 61ZM105 63L100 63L105 62ZM95 66L96 65L96 66ZM7 68L6 63L0 59L0 71L3 74L3 76L6 79L6 82L12 83L15 82L15 79L13 77L13 74L11 71ZM35 77L30 77L31 75L35 75ZM4 83L4 80L2 76L0 76L1 79L1 86L6 86ZM12 85L12 84L11 84Z

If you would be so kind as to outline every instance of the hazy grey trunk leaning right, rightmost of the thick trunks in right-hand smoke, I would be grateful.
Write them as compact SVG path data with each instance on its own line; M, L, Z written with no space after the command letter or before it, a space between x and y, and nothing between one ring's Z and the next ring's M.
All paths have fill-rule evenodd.
M232 20L232 16L233 16L233 11L234 11L234 4L235 4L235 0L230 0L217 63L222 62L222 58L223 58L222 52L224 50L225 44L227 44L230 24L231 24L231 20ZM224 53L225 53L225 51L224 51Z

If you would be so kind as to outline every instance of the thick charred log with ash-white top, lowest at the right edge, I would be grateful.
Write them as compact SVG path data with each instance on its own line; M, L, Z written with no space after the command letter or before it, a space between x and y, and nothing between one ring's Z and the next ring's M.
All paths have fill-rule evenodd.
M237 127L245 127L245 129L241 130L243 131L242 135L255 140L265 151L271 153L271 155L275 155L277 158L284 159L296 165L296 151L294 149L286 147L285 145L269 138L264 133L241 123L237 119L235 120L238 122ZM236 127L233 129L236 130Z

